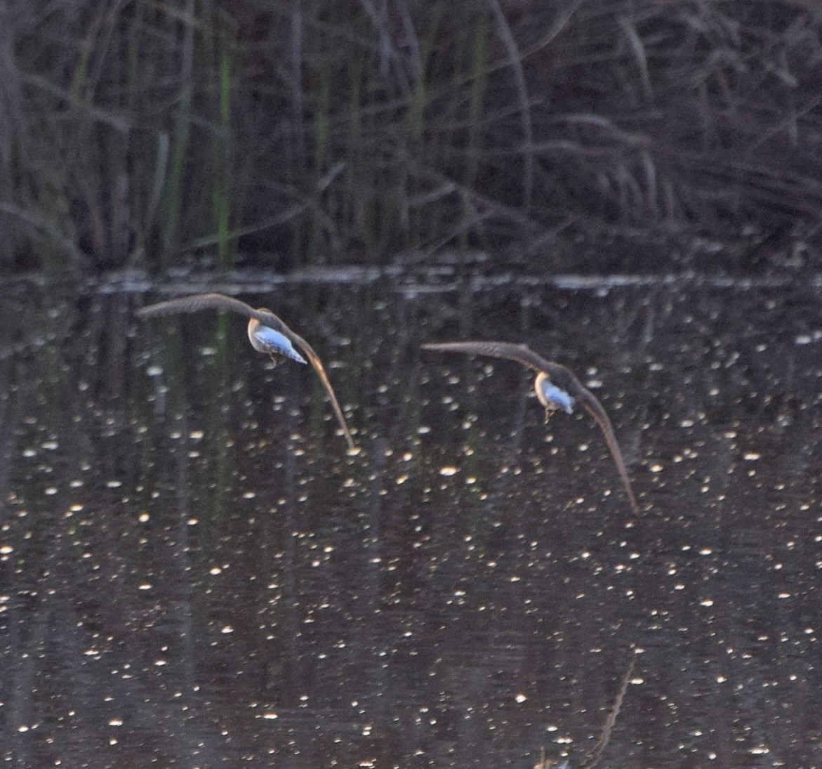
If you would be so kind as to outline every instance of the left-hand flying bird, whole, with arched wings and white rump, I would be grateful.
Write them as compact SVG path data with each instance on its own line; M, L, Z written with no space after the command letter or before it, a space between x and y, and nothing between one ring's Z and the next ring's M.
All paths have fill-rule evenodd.
M196 313L198 310L230 310L249 318L247 331L248 340L252 343L252 347L258 352L270 355L275 363L277 357L280 356L305 364L306 359L302 357L302 354L304 354L308 362L312 364L316 375L320 378L322 386L326 388L331 401L331 408L334 409L339 426L343 430L345 441L349 444L349 448L353 449L354 443L349 426L345 422L343 410L339 407L337 396L334 394L334 389L331 387L331 382L320 357L302 336L295 334L269 309L264 307L254 309L245 302L224 294L192 294L178 297L178 299L169 299L166 302L150 304L148 307L138 309L136 315L138 317L155 317L156 315L172 315L175 313ZM302 354L295 349L295 345Z

